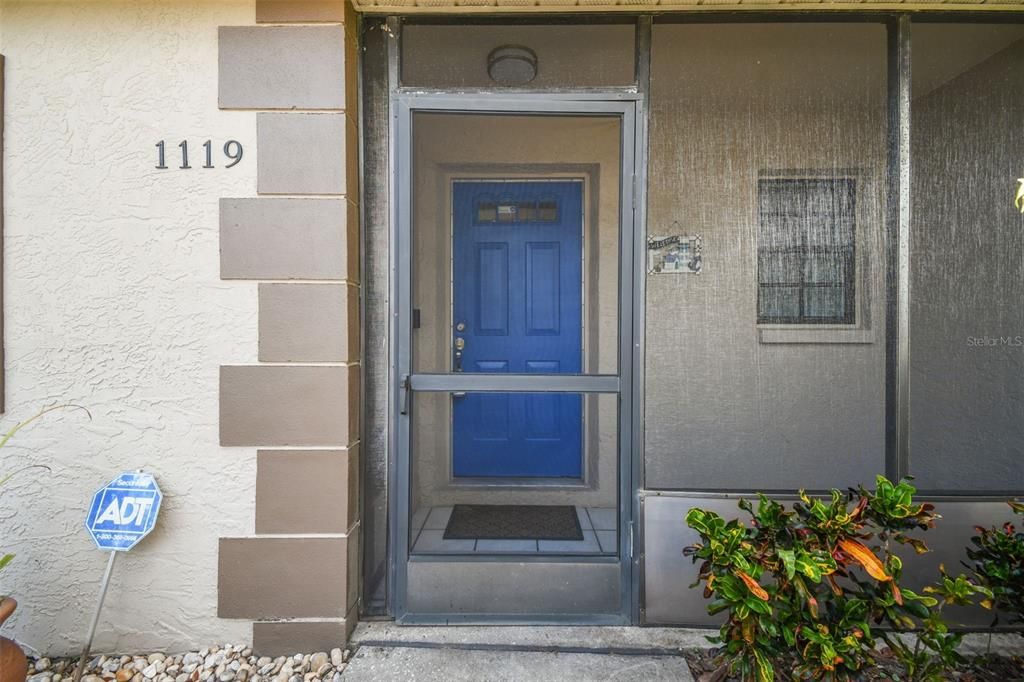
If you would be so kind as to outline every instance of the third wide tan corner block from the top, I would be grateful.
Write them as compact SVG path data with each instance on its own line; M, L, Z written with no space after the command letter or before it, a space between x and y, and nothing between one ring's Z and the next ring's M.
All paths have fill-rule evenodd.
M352 367L221 367L220 444L348 445L357 382Z

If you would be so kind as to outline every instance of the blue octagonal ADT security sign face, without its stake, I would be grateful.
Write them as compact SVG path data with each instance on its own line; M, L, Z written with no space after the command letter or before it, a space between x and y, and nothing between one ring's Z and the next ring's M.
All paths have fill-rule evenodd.
M96 491L85 527L99 549L127 552L157 524L162 499L151 474L125 472Z

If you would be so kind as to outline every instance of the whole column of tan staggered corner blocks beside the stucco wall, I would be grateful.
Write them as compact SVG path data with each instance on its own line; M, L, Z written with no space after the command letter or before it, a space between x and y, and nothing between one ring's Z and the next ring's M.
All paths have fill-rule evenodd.
M220 443L259 450L253 534L220 541L218 614L254 621L265 655L341 646L357 615L353 18L256 0L255 25L219 33L220 108L257 119L255 196L220 203L220 274L259 300L258 357L220 368Z

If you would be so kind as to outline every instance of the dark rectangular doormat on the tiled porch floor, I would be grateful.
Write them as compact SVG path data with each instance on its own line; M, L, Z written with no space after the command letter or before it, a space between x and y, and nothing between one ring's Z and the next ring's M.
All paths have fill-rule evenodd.
M444 540L583 540L571 505L456 505Z

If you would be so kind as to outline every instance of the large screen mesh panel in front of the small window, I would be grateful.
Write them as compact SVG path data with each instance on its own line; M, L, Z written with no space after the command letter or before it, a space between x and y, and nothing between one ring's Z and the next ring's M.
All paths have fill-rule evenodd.
M872 480L885 471L885 27L666 24L652 49L647 229L700 235L703 267L647 275L644 484ZM761 194L772 178L805 183ZM797 285L779 316L815 324L759 322L768 281ZM801 298L818 319L792 319Z

